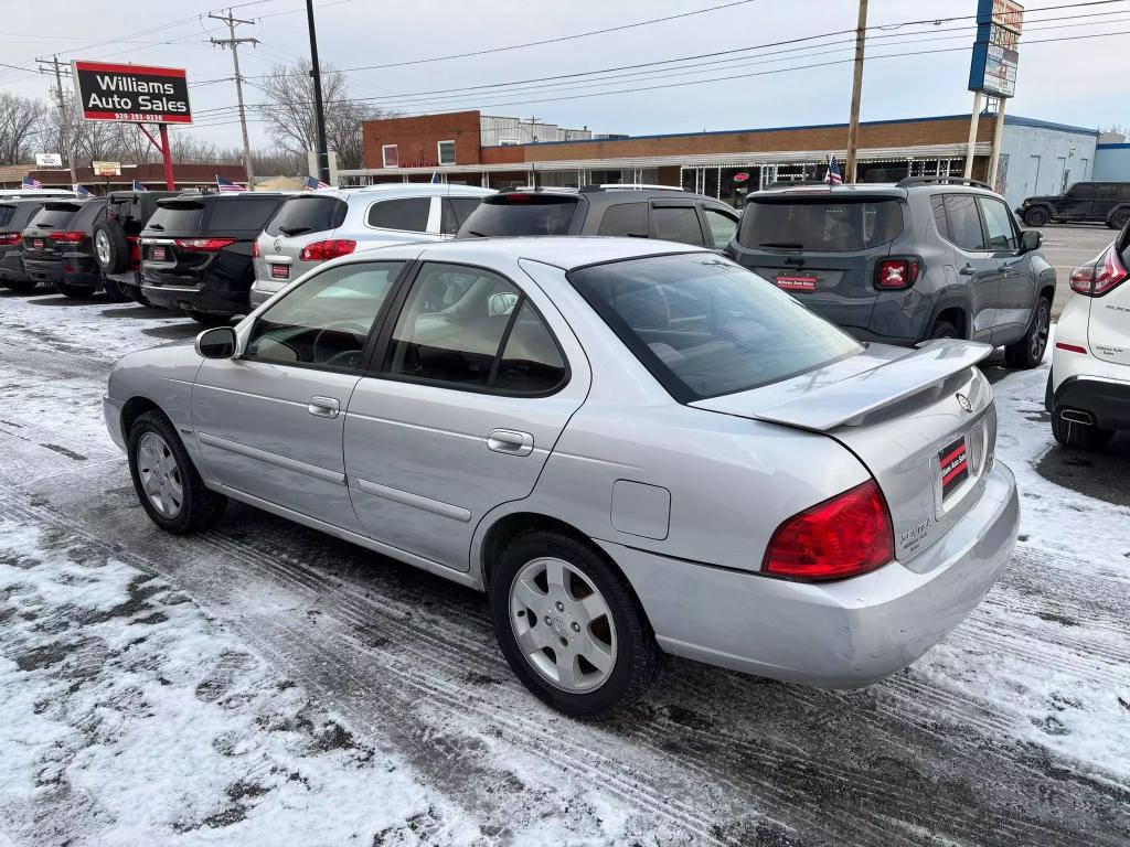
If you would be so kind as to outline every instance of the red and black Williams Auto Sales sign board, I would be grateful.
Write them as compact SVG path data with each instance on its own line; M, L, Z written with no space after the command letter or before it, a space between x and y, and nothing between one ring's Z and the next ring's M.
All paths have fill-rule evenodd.
M181 69L82 61L71 69L87 121L192 123L189 80Z

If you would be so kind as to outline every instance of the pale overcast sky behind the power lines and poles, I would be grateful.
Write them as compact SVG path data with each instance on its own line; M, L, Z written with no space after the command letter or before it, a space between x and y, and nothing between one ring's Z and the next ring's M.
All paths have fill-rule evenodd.
M391 64L570 36L724 2L318 0L319 49L323 62L338 68ZM245 75L262 75L272 64L308 55L302 0L253 3L243 0L242 8L240 2L233 5L237 7L237 17L255 21L238 27L237 35L261 41L257 49L247 46L240 51ZM192 131L224 145L238 143L238 125L228 123L235 120L234 112L215 111L235 103L234 84L221 80L232 73L231 53L208 43L210 35L226 37L226 25L207 18L207 12L218 7L208 6L207 0L50 0L49 6L51 14L45 15L42 3L5 0L0 62L34 67L35 56L58 53L66 60L104 59L184 67L189 71L192 108L198 116ZM1009 111L1086 126L1130 121L1123 59L1130 50L1130 0L1103 5L1038 0L1027 6L1017 96ZM1041 7L1046 10L1035 11ZM637 76L599 86L581 78L555 88L527 87L508 94L505 89L488 90L428 102L394 97L602 70L852 29L857 8L855 0L753 0L555 44L350 71L351 94L384 98L381 105L403 113L480 107L486 114L537 115L565 126L584 125L600 132L631 134L844 122L851 99L851 64L843 61L851 59L851 43L845 35L720 56L733 61L696 68L699 71L696 75L684 71L678 76L670 67L661 67L643 69L643 73L635 71ZM871 0L870 26L923 19L939 23L871 32L884 37L868 47L863 120L967 113L972 99L966 85L973 27L972 20L962 16L975 11L975 0ZM1081 15L1093 17L1078 17ZM962 19L951 20L954 17ZM1078 38L1099 33L1121 34ZM115 35L120 41L111 41ZM1035 43L1063 37L1078 40ZM797 46L806 50L771 52ZM946 49L955 50L925 52ZM878 58L883 53L909 55ZM781 71L826 62L841 63ZM775 72L598 95L763 71ZM0 68L0 88L6 90L45 96L53 81L53 77ZM258 103L259 91L249 87L245 97L249 103ZM269 145L260 123L252 124L252 142Z

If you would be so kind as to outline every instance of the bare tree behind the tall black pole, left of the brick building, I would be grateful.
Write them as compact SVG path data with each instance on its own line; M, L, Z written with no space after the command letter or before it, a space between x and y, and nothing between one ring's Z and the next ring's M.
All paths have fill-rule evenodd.
M301 62L276 66L259 86L267 101L260 106L276 146L301 157L318 146L314 116L314 80L311 64ZM349 85L340 71L330 66L322 68L322 103L325 108L325 142L337 152L338 167L357 168L364 164L362 123L386 113L368 104L351 99Z

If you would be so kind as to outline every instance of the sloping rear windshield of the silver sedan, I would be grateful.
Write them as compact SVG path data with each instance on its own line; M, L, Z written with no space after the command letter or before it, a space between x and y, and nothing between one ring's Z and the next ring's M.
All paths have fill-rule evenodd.
M685 403L781 382L863 349L776 286L712 253L600 264L570 280Z

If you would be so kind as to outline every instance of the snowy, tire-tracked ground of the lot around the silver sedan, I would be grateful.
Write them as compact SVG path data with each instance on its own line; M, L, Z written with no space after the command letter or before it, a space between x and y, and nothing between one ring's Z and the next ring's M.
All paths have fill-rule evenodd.
M683 662L585 725L477 594L235 504L149 523L105 377L195 329L0 294L0 847L1130 842L1130 509L1037 472L1044 369L996 383L1020 542L941 645L851 692Z

